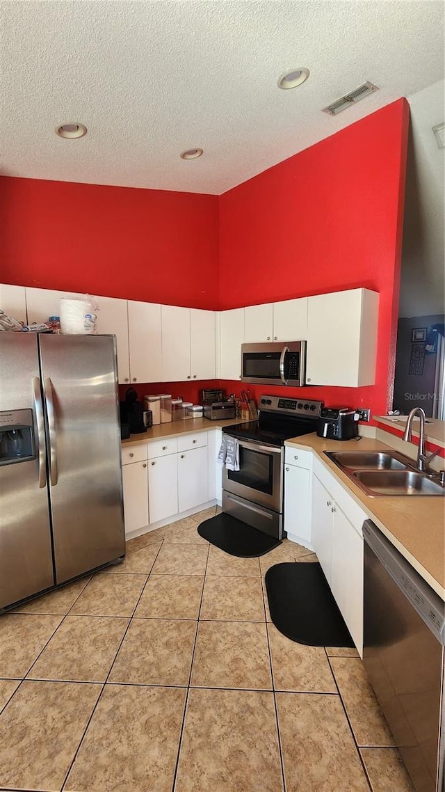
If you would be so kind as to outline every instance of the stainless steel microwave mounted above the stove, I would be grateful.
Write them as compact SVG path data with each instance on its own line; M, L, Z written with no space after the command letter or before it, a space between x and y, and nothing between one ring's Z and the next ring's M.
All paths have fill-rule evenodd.
M306 341L242 344L243 383L291 385L306 383Z

